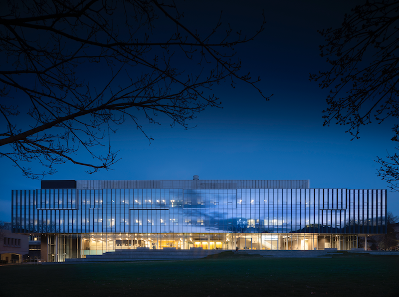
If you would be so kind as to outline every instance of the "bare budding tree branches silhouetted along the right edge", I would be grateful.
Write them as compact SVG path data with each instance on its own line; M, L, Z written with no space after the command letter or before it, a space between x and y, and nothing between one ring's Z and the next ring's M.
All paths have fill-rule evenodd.
M311 74L329 88L329 107L324 125L347 125L353 138L360 127L387 118L399 118L399 1L371 0L345 14L342 26L319 31L326 44L321 56L331 64L328 71ZM393 127L393 141L399 141L399 125ZM378 158L379 176L397 189L399 155Z

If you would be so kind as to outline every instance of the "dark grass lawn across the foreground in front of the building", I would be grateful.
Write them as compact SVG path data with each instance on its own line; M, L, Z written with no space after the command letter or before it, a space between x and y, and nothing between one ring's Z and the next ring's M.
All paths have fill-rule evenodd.
M195 261L3 266L0 283L1 297L399 297L399 257L272 259L226 252Z

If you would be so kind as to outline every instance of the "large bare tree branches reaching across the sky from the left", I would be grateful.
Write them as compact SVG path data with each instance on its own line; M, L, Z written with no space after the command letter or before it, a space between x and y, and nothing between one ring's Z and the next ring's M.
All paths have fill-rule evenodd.
M246 37L220 19L192 27L172 0L9 0L0 12L0 157L31 178L68 161L92 173L117 161L104 139L116 125L145 134L143 119L165 115L187 128L220 104L211 87L225 80L260 92L234 47L264 22ZM45 170L24 165L32 160Z

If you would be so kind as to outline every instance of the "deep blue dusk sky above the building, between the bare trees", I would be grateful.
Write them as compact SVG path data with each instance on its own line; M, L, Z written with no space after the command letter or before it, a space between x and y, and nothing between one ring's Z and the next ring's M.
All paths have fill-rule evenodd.
M264 9L265 30L236 50L244 72L260 76L257 86L265 96L273 94L270 101L249 85L214 86L222 108L198 114L189 122L195 128L171 128L162 116L161 125L143 122L154 138L149 145L135 127L120 126L111 135L112 148L121 158L112 170L89 175L86 168L66 163L45 180L190 180L199 175L222 180L309 179L311 188L388 189L377 176L375 160L387 151L395 153L394 121L364 126L360 139L351 141L345 126L323 127L328 90L309 81L309 73L329 67L320 57L318 46L324 40L317 30L338 27L345 12L364 1L198 1L198 7L187 2L181 7L189 27L211 27L223 10L222 22L248 35L260 26ZM5 158L0 168L0 221L10 222L11 190L38 189L40 181L23 177ZM388 211L399 216L398 193L388 192Z

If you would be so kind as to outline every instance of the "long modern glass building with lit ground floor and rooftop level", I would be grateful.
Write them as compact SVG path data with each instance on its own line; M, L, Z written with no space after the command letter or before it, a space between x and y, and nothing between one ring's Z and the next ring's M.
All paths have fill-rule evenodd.
M309 180L42 181L12 191L12 229L44 261L117 249L357 248L387 233L387 190L310 189Z

